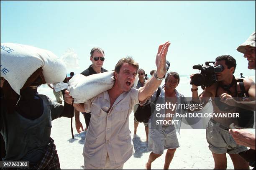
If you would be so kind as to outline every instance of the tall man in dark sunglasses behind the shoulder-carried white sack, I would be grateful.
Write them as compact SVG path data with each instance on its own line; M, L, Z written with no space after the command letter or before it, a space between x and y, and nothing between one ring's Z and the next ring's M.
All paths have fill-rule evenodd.
M104 56L105 56L105 53L101 48L99 47L92 48L90 52L90 60L92 61L92 64L89 66L88 69L84 70L81 74L84 76L90 76L92 74L103 73L108 71L102 68L105 60ZM86 127L89 128L91 113L82 112L82 114L84 115ZM77 132L80 133L84 131L84 129L79 119L79 112L76 109L74 109L74 115L75 115L76 129L77 129Z

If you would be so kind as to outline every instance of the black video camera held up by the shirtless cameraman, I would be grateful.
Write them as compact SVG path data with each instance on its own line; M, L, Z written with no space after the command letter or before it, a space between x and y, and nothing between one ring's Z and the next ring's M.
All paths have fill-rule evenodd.
M224 67L222 65L209 66L210 63L214 64L215 61L207 61L205 62L205 66L200 64L193 66L193 69L200 70L201 74L195 74L194 76L192 76L190 84L209 87L217 81L215 73L222 72L224 70Z

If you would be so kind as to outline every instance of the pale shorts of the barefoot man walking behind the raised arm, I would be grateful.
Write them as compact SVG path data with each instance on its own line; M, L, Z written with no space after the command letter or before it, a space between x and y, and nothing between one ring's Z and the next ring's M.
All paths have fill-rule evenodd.
M179 147L176 129L173 125L163 126L159 129L149 129L148 131L148 151L156 154L163 154L166 149Z

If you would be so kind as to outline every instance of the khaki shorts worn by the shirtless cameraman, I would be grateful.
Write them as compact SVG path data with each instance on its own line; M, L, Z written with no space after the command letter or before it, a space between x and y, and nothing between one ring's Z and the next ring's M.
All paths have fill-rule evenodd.
M216 126L211 120L206 128L206 140L210 151L216 154L238 154L248 150L245 146L237 145L228 130Z

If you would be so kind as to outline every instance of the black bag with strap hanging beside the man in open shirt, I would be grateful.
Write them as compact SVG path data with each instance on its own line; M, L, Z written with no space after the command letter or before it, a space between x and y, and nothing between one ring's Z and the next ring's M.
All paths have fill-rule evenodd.
M156 100L158 99L159 95L161 93L161 87L158 87L156 92L156 99L154 101L154 104L156 104ZM148 119L151 116L151 104L147 105L139 105L138 109L134 113L134 117L138 122L148 123Z

